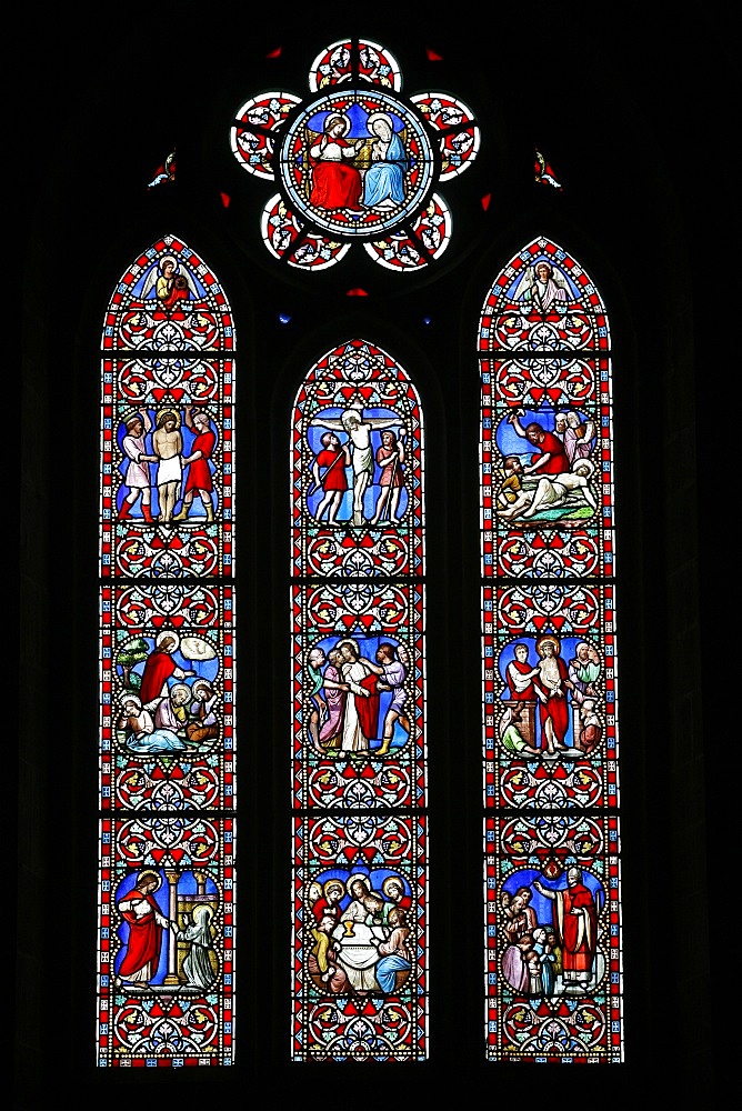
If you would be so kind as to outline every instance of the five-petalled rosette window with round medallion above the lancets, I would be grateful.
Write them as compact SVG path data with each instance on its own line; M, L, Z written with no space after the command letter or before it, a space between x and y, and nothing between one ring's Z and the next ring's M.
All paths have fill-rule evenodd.
M261 234L278 260L308 270L339 262L362 242L374 262L404 272L434 261L451 214L433 192L477 157L479 127L450 93L400 94L402 76L378 43L340 40L317 57L311 97L251 97L235 112L232 153L280 192Z

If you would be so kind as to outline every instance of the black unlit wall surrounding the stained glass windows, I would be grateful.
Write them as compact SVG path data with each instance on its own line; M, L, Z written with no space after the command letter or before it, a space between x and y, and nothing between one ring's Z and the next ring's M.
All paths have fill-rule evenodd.
M736 506L724 477L735 434L739 171L731 31L713 6L693 18L673 11L459 3L415 16L292 17L181 2L20 16L10 36L7 221L20 233L22 339L6 379L11 420L20 366L20 480L16 457L8 472L21 552L11 653L18 1108L54 1094L114 1107L250 1095L377 1102L432 1098L444 1085L519 1102L553 1091L604 1107L639 1095L718 1105L716 1030L735 944L729 914L721 930L713 920L709 940L709 909L733 898L735 848L716 781L731 778L736 743L725 648ZM451 246L420 276L391 274L358 248L327 272L279 268L259 234L275 189L229 149L232 113L249 96L307 94L320 49L359 33L397 56L403 93L451 91L482 129L477 162L440 190L453 212ZM176 186L148 191L173 146ZM562 192L533 182L534 146ZM231 1070L153 1075L93 1063L97 420L114 282L169 231L218 274L238 330L239 1043ZM483 1061L474 344L489 286L538 234L599 286L614 357L626 1062L586 1075ZM348 298L355 286L369 297ZM285 650L290 407L312 362L355 333L410 372L425 413L432 827L431 1059L360 1071L289 1062Z

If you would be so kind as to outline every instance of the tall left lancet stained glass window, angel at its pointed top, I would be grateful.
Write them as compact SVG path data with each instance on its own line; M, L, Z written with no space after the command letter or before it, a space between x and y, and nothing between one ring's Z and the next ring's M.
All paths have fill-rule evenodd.
M230 1064L234 329L167 236L102 337L101 1065Z

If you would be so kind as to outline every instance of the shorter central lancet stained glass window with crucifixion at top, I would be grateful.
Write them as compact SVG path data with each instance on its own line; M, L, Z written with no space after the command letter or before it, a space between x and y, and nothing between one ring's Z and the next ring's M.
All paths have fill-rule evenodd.
M423 429L362 339L291 423L297 1061L428 1053Z

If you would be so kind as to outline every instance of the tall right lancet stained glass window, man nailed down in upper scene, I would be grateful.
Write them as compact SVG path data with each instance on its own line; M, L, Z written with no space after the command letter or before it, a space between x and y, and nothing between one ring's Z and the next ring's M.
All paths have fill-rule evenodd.
M623 1058L610 333L548 239L479 326L488 1057Z

